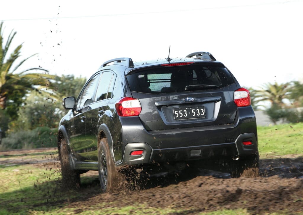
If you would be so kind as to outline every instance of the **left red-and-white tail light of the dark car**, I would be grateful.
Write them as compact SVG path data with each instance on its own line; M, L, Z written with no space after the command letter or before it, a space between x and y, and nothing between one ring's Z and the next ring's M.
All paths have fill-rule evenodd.
M115 106L118 115L121 117L138 116L142 110L139 100L130 97L121 98Z

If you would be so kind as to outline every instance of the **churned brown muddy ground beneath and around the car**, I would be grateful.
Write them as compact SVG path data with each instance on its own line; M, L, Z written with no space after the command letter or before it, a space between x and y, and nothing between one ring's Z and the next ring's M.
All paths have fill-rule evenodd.
M45 149L38 149L45 150ZM13 154L29 154L35 151L0 152L6 155L0 164L16 162L43 167L59 167L54 157L35 160L26 158L12 160ZM11 159L11 160L9 160ZM303 157L290 155L283 158L261 159L260 176L257 178L230 178L228 173L199 168L186 174L152 175L140 184L125 186L112 193L99 191L98 172L82 174L86 178L78 188L79 196L69 199L69 208L80 213L100 202L113 202L112 207L123 207L145 203L149 207L178 208L182 214L195 214L218 209L247 209L251 214L284 212L303 213ZM87 180L90 178L90 180ZM61 204L65 201L53 201ZM138 208L139 210L139 208ZM131 211L130 211L131 212Z

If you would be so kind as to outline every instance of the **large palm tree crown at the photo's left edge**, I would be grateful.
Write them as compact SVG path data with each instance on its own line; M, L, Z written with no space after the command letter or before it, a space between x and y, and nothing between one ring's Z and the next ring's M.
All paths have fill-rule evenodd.
M18 94L18 97L23 97L28 91L36 89L37 85L44 85L46 88L49 85L48 78L53 78L53 75L49 75L45 69L42 68L30 68L22 72L16 73L17 69L26 61L31 58L32 55L21 62L15 68L12 68L13 63L20 57L20 50L22 44L18 45L10 56L7 56L9 46L12 39L17 32L11 31L8 36L6 43L4 44L3 32L2 32L3 22L0 24L0 108L6 108L6 101L14 98L14 95ZM32 70L42 70L43 73L28 73ZM16 97L16 96L15 96ZM19 106L18 104L17 106Z

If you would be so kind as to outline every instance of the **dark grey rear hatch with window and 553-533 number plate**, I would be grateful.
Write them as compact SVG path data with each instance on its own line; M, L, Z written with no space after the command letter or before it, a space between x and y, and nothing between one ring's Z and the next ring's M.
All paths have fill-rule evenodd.
M235 120L237 85L221 63L149 66L128 72L126 78L133 98L140 101L139 117L148 131L230 124Z

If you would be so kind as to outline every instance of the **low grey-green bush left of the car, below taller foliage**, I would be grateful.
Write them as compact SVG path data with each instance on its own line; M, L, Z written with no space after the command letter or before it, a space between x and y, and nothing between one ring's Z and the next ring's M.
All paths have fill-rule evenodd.
M29 149L57 146L57 129L37 127L32 131L10 133L2 139L2 149Z

